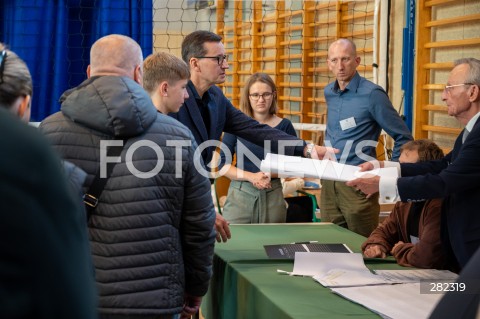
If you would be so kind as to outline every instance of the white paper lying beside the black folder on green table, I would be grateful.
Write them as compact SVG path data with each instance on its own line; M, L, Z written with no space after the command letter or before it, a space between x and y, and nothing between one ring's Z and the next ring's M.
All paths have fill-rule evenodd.
M291 275L313 276L325 287L388 284L372 274L358 253L295 253Z

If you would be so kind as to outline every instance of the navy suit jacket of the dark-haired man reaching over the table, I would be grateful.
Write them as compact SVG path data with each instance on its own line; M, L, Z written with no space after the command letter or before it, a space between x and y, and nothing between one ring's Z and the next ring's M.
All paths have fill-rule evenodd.
M284 155L303 154L305 142L298 138L284 133L280 130L271 128L268 125L260 124L243 112L236 109L232 103L225 97L222 90L217 86L212 86L205 94L210 94L215 105L209 105L210 128L208 129L203 122L202 115L198 108L195 97L197 92L192 91L192 83L187 86L188 95L190 96L180 108L178 113L170 113L169 115L177 119L187 126L193 133L198 145L208 140L219 141L222 132L228 132L236 136L242 137L254 144L264 147L266 140L272 141L272 153L278 153L280 140L290 141L289 147L286 147ZM298 146L292 147L291 142L297 141ZM281 143L280 143L281 147ZM204 163L210 162L215 147L208 147L202 152Z

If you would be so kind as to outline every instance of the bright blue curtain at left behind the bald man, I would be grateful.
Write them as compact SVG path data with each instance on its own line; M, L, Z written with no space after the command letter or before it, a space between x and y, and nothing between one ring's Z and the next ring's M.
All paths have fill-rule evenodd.
M32 121L60 109L62 93L86 79L90 46L112 33L152 53L152 0L2 0L0 41L33 77Z

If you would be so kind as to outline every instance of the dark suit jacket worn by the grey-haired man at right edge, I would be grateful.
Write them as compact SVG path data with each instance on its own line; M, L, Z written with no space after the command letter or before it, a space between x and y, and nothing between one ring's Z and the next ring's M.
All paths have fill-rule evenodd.
M461 267L480 245L480 121L465 143L462 134L439 161L402 164L397 186L402 201L445 198L442 223Z

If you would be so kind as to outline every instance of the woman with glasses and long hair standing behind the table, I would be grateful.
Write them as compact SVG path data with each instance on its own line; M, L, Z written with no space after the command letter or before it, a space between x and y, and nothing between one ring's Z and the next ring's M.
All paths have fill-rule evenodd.
M265 73L255 73L246 82L240 97L240 110L262 124L296 136L292 123L276 115L276 87ZM267 144L269 141L266 141ZM222 143L237 155L236 166L230 166L225 176L232 181L223 215L230 223L283 223L286 206L280 179L270 178L260 171L260 161L268 152L265 148L225 133ZM222 163L225 153L221 153Z

